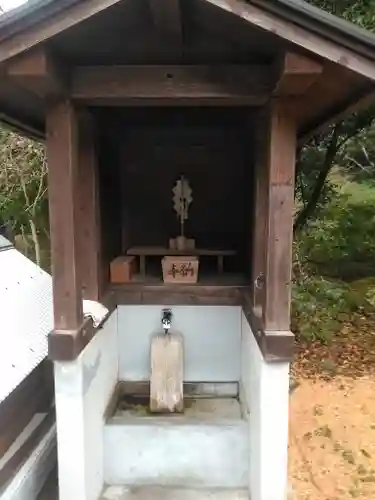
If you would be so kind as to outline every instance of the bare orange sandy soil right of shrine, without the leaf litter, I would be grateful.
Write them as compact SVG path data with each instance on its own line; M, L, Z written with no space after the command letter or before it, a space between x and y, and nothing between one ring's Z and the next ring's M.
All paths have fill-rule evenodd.
M375 376L298 378L291 394L293 500L375 499Z

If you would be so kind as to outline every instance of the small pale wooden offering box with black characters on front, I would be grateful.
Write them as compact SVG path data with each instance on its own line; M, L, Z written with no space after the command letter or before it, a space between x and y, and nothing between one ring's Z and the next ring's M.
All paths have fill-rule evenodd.
M166 256L162 259L164 283L196 283L199 259L190 256Z

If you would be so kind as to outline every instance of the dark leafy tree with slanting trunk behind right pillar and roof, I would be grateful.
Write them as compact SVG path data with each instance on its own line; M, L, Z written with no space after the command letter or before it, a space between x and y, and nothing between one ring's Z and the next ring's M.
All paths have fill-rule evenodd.
M309 3L375 31L374 0L310 0ZM345 145L351 143L353 146L353 140L366 134L374 123L375 107L364 109L316 135L301 148L296 171L296 199L300 209L295 219L295 231L317 215L319 206L332 194L327 179Z

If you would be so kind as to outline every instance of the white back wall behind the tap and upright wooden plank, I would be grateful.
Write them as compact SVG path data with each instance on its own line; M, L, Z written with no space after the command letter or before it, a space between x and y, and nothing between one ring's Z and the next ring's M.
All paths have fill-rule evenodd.
M168 307L168 306L164 306ZM172 331L184 337L187 382L240 379L241 308L238 306L170 306ZM163 306L118 308L120 380L148 380L150 339L161 331Z

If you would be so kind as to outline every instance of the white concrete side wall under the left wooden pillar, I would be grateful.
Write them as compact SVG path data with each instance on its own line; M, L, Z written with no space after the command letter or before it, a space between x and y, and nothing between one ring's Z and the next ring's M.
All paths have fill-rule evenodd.
M117 311L80 356L55 363L60 500L97 500L104 412L118 380Z

